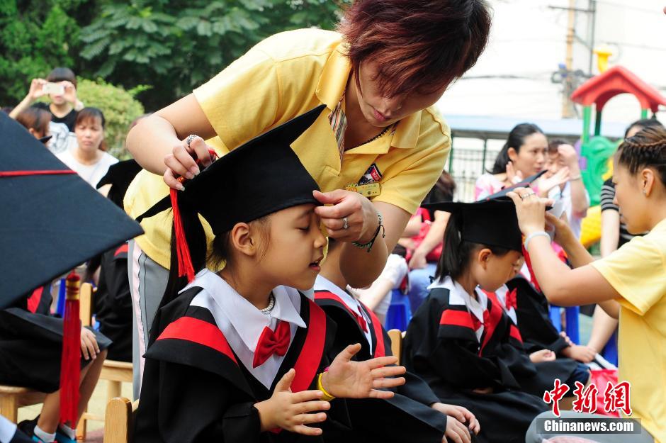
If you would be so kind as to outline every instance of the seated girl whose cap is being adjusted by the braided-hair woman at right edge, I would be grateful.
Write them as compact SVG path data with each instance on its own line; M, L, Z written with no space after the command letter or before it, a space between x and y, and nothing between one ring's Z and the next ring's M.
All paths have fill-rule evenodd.
M451 213L429 297L407 328L403 361L443 403L468 408L479 442L522 442L547 405L523 391L536 374L493 292L514 275L521 233L510 201L434 203Z

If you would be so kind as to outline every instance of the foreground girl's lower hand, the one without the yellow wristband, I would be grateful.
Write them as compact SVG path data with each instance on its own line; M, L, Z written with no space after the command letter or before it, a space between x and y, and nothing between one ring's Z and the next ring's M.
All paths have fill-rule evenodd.
M331 403L320 400L322 391L291 392L291 382L296 375L294 369L278 381L273 396L268 400L256 403L254 407L259 411L261 432L276 427L289 432L303 435L321 435L318 427L305 426L307 423L319 423L326 420L326 413L314 413L317 410L327 410Z

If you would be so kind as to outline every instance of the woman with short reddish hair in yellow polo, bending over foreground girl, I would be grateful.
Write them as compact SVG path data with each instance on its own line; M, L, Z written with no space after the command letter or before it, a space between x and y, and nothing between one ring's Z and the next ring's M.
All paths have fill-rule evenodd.
M293 148L324 191L317 199L332 205L317 213L343 243L346 281L368 286L444 169L450 130L433 105L478 60L490 21L485 0L357 0L339 32L267 38L130 131L128 149L146 171L128 189L125 210L137 217L168 186L179 189L176 176L199 172L193 156L210 164L209 147L224 155L324 103L327 111ZM145 342L142 329L166 285L171 218L142 226L130 273Z

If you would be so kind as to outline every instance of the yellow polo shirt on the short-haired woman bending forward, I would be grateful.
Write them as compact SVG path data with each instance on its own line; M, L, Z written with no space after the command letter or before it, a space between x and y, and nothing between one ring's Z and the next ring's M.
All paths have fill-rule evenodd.
M292 145L320 189L344 189L374 164L381 174L381 194L373 201L414 213L444 169L450 130L433 106L400 120L393 134L346 150L341 164L329 115L342 99L350 72L339 33L301 29L267 38L194 91L218 134L209 144L224 155L324 103L328 109ZM162 176L142 171L125 195L125 211L136 218L167 194ZM146 233L137 243L169 268L171 211L141 225ZM208 225L205 229L210 240Z

